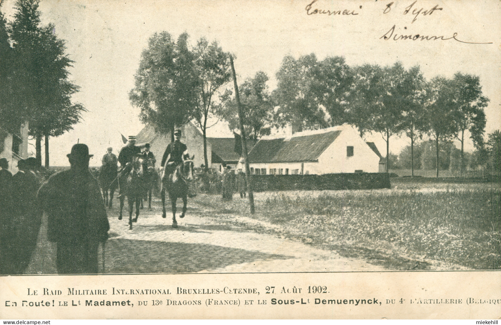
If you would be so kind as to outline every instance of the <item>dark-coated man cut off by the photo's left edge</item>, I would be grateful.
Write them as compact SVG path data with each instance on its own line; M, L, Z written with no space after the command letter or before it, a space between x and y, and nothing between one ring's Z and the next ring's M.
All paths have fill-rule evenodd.
M0 159L0 274L12 274L12 201L11 186L12 173L8 170L9 162L6 158Z

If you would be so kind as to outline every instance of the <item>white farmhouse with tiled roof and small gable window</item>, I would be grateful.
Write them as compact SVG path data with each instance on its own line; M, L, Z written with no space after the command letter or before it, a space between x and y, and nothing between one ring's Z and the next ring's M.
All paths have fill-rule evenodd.
M374 146L375 147L375 146ZM376 153L350 125L263 138L248 154L253 174L379 172Z

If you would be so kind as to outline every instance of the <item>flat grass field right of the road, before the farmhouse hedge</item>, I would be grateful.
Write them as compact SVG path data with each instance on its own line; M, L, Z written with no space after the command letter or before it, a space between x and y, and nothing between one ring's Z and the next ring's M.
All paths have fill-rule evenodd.
M196 200L390 269L499 269L499 185L395 178L392 189L263 192L256 194L254 215L239 197L221 202L202 194Z

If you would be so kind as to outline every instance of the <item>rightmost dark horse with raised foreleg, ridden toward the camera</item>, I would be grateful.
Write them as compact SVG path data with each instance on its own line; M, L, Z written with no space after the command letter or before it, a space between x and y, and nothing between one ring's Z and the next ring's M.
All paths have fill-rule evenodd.
M177 198L182 198L183 200L183 211L179 215L180 218L184 217L186 213L186 204L188 203L188 182L193 180L193 155L190 159L184 160L183 163L179 164L171 174L166 174L167 162L165 163L164 170L162 173L162 188L160 190L160 196L162 198L162 217L166 217L165 212L165 191L169 193L170 202L172 204L172 227L177 227L176 221L176 201Z

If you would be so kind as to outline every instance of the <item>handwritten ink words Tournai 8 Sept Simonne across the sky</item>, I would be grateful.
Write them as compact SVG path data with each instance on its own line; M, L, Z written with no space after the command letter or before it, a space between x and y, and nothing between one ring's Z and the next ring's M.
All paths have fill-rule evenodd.
M360 11L357 12L359 9L333 9L333 8L321 8L317 2L318 0L313 0L310 3L308 3L305 7L306 14L309 16L331 16L331 15L358 15L359 12L361 12L362 6L359 6ZM403 2L403 1L402 1ZM409 1L410 2L410 1ZM409 3L407 2L407 3ZM407 4L405 3L405 4ZM395 9L396 7L395 1L389 2L384 5L383 7L383 13L385 16L391 16L391 14L388 14L389 12L399 12ZM392 10L393 9L393 10ZM403 15L410 15L412 16L412 20L410 23L413 23L418 19L418 17L430 17L433 13L435 13L433 16L437 16L438 12L441 12L443 10L442 7L439 7L438 4L435 4L434 6L430 6L427 8L421 7L418 3L418 0L414 0L414 2L410 3L405 7L403 11L400 11ZM362 15L361 15L362 16ZM407 29L407 26L404 26L404 29ZM444 35L423 35L420 33L408 33L407 30L400 32L398 31L397 25L393 24L391 28L388 29L379 39L382 40L410 40L410 41L416 41L416 40L455 40L461 43L466 43L466 44L492 44L492 42L473 42L473 41L464 41L460 40L458 37L457 32L451 32L449 33L451 36L444 36Z

